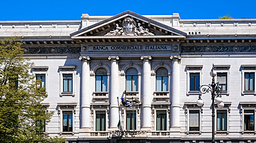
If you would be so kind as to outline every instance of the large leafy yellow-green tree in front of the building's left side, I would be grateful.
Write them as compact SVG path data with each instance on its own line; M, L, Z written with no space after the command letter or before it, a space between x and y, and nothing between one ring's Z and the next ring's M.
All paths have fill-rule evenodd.
M17 37L0 41L0 142L64 142L42 131L53 112L42 106L46 90L37 88L21 44Z

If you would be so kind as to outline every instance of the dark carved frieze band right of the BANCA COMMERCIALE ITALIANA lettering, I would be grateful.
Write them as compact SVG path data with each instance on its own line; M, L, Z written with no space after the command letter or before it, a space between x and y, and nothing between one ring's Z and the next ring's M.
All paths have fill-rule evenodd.
M256 52L256 45L181 46L181 52Z

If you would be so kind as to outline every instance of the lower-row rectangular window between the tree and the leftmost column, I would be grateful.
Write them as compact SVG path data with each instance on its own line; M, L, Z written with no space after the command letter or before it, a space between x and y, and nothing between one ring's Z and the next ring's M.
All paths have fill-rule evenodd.
M62 111L63 131L73 131L73 111Z

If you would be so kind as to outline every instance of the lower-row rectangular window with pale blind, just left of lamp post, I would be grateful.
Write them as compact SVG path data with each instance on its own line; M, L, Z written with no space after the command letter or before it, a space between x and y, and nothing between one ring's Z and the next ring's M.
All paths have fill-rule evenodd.
M199 110L190 110L190 131L199 131Z

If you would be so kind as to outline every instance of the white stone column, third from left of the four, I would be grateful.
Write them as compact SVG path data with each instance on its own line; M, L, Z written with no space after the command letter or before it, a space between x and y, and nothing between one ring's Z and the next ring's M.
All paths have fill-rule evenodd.
M142 80L142 91L143 91L143 130L151 130L151 56L141 56L143 60L143 80Z

